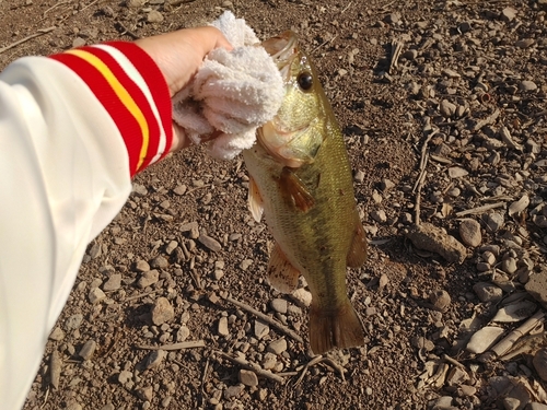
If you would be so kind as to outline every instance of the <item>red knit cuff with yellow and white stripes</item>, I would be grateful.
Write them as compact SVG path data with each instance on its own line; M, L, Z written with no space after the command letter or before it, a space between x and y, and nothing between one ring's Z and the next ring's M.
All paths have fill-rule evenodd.
M112 117L126 143L131 177L168 153L173 142L167 84L132 43L112 42L53 55L74 71Z

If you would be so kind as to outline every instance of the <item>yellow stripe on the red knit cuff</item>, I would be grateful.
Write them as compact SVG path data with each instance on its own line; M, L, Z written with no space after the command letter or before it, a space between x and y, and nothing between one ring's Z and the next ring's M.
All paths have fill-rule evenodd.
M147 156L148 145L150 141L150 130L148 128L147 119L144 118L144 115L140 110L139 106L124 87L124 85L121 85L116 75L114 75L110 69L98 57L92 55L91 52L79 49L67 50L65 52L78 56L95 67L101 72L101 74L103 74L108 84L110 84L118 98L139 124L139 127L142 131L142 145L140 149L139 163L137 164L136 171L140 169L142 163L144 162L144 157Z

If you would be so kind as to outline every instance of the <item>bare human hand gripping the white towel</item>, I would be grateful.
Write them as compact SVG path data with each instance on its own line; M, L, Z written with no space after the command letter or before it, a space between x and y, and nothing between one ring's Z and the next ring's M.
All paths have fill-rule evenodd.
M211 50L218 47L232 49L231 44L216 27L184 28L141 38L136 44L155 61L167 82L171 96L191 80ZM190 144L191 141L184 129L173 124L171 152Z

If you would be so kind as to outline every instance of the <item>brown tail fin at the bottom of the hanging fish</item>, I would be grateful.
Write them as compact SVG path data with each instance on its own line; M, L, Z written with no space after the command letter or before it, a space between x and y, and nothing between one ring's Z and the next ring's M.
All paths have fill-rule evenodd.
M310 311L310 344L315 354L334 348L347 349L364 344L364 329L361 319L349 298L337 309Z

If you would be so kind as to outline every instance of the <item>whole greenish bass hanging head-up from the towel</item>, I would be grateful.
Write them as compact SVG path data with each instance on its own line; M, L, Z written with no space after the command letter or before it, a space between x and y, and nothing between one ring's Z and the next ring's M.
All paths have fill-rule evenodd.
M364 263L368 243L344 137L296 34L284 32L261 46L280 70L284 97L243 159L248 208L257 222L265 216L275 239L269 282L290 293L304 276L313 353L359 347L364 329L348 297L346 269Z

